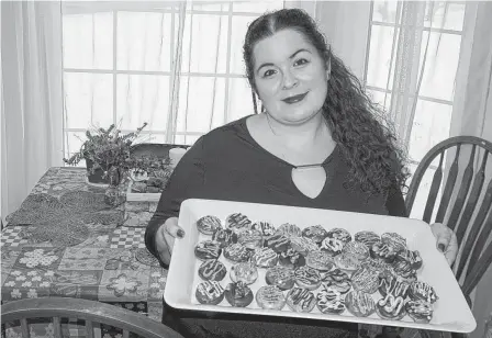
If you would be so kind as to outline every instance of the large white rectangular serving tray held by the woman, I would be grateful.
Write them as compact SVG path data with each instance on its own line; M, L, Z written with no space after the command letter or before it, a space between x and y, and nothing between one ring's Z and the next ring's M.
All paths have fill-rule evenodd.
M255 300L244 308L231 306L225 298L219 305L198 303L194 292L202 280L198 275L201 261L194 257L194 246L201 240L211 238L198 232L195 222L205 215L215 215L225 221L227 215L237 212L247 215L251 221L269 221L276 227L289 222L297 224L300 228L317 224L323 225L326 229L342 227L353 236L359 230L373 230L379 235L385 232L399 233L406 238L409 248L418 250L421 254L424 264L418 271L418 280L434 286L439 297L434 304L433 319L429 324L417 324L406 315L401 320L388 320L381 319L376 313L369 317L356 317L347 309L342 315L326 315L322 314L317 307L311 313L295 313L287 305L282 311L267 311L260 308ZM318 209L192 199L181 204L179 225L187 235L185 238L175 241L164 293L167 304L175 308L392 325L455 333L471 333L477 327L477 322L451 269L444 255L436 249L436 241L431 227L423 221ZM228 275L231 263L222 256L220 260L227 268L227 275L221 281L225 289L231 282ZM249 285L255 295L256 291L266 284L265 272L266 269L258 269L258 280ZM287 294L287 292L284 293ZM377 302L380 298L379 293L376 293L373 297Z

